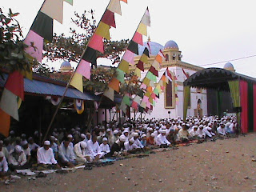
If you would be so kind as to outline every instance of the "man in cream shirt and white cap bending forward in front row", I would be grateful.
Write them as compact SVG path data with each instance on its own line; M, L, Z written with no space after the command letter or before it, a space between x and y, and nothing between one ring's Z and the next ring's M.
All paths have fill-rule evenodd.
M87 143L83 141L74 145L74 154L76 156L75 160L78 163L92 162L94 160L93 151L90 150Z

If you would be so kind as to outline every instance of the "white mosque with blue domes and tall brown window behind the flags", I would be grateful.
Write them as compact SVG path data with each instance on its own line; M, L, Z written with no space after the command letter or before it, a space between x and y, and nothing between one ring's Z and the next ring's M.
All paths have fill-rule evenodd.
M147 70L149 70L151 64L154 62L159 50L162 50L166 59L163 59L162 61L158 81L166 71L166 67L169 68L172 75L176 76L177 80L169 82L164 93L160 94L153 111L150 114L142 114L142 118L183 118L183 82L187 78L186 74L190 76L203 68L187 62L182 62L182 51L179 50L176 42L169 41L166 42L165 46L162 46L157 42L151 42L150 39L148 42L144 42L144 46L139 46L139 55L134 57L134 64L138 63L145 47L150 50L150 59L148 60L148 63L144 64L145 71L142 72L142 79L145 77ZM130 66L130 70L134 69L135 65ZM187 115L197 115L202 117L202 115L205 114L207 114L206 90L191 88L190 105ZM132 112L131 118L134 117L140 118L141 114L134 114L134 112Z

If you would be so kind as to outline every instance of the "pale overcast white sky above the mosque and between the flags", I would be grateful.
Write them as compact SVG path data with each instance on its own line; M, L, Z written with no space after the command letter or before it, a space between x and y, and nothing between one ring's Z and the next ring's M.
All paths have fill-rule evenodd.
M11 8L19 12L18 21L26 36L43 0L1 0L4 11ZM106 10L109 0L74 0L74 5L64 2L62 25L54 21L54 33L69 33L73 26L70 18L74 11L95 10L97 22ZM182 51L182 61L196 66L221 62L204 67L223 67L231 61L236 72L256 78L256 11L254 0L128 0L121 2L122 16L115 14L116 29L110 30L113 40L132 38L146 7L149 7L151 26L148 34L152 42L162 46L174 40ZM147 37L144 38L144 41ZM60 62L46 62L58 69ZM110 61L98 59L98 64ZM75 65L74 63L72 65Z

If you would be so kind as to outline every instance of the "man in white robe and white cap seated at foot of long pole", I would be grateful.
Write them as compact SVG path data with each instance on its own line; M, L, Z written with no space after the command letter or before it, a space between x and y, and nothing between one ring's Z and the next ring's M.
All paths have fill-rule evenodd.
M45 141L43 146L38 149L38 170L59 169L58 163L54 158L54 152L50 148L50 141Z

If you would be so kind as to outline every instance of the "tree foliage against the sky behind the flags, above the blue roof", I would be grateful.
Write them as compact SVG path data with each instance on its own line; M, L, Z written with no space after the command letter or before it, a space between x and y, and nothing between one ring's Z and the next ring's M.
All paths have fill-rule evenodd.
M46 56L51 61L64 59L78 62L82 56L91 35L96 29L96 20L94 19L94 10L85 11L82 15L74 13L75 18L71 18L72 22L78 26L78 30L84 32L79 33L78 30L70 28L71 36L66 37L65 34L54 34L53 42L46 43ZM113 64L120 61L120 54L128 46L128 39L121 41L104 40L105 53L98 52L98 58L109 58Z

